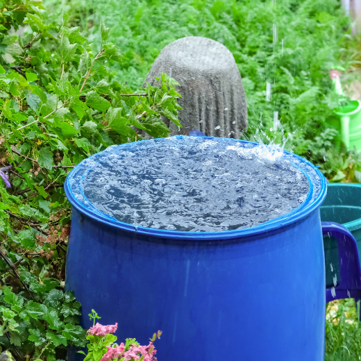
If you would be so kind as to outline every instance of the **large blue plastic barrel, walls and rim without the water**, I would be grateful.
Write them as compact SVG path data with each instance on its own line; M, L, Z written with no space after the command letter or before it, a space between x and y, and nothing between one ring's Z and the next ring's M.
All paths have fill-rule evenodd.
M142 142L150 141L161 146L162 140ZM135 337L148 344L162 330L158 361L324 360L319 207L326 183L318 169L285 152L313 193L295 211L265 224L203 233L135 227L97 211L80 187L97 162L137 143L84 160L65 183L73 205L66 288L82 304L81 325L92 326L87 314L94 309L101 324L118 323L119 343ZM70 351L68 359L83 357Z

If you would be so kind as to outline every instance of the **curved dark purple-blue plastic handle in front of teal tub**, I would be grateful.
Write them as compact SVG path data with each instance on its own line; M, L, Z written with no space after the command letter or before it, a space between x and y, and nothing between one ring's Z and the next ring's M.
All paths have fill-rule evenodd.
M326 302L335 299L361 299L361 267L358 244L352 233L334 222L321 222L323 235L334 237L339 255L339 275L341 280L335 287L326 289Z

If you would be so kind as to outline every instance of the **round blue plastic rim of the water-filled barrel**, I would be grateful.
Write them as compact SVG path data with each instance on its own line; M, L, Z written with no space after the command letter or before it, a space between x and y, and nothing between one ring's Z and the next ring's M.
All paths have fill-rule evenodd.
M177 135L176 138L182 139L183 136ZM212 139L219 139L219 137L202 137L208 140ZM164 140L165 138L156 138L156 140ZM260 146L257 142L249 142L248 140L237 140L234 138L223 138L229 141L235 141L235 142L241 142L246 144L253 144L253 146ZM141 140L140 142L148 142L149 140ZM135 143L135 142L134 142ZM124 143L115 146L129 146L130 143ZM107 149L109 149L108 147ZM106 151L106 149L104 150ZM99 157L101 153L104 151L101 151L99 153L94 154L93 156L90 156L89 158L86 158L87 160L91 158ZM112 228L118 228L121 230L126 230L131 233L137 233L140 235L147 235L152 237L160 237L160 238L167 238L167 239L173 239L173 240L197 240L197 241L208 241L208 240L230 240L235 238L243 238L243 237L250 237L253 235L260 235L262 233L269 233L274 230L282 230L282 228L285 228L287 226L292 226L292 224L296 224L297 222L303 221L305 217L308 217L310 213L312 213L314 210L319 208L321 203L324 201L327 193L327 183L326 178L324 175L319 171L317 167L312 165L311 162L306 160L305 158L301 156L297 156L294 153L291 153L289 151L284 151L284 153L288 154L289 156L292 156L294 158L297 158L299 161L304 162L306 165L309 165L312 167L312 169L316 172L316 174L319 176L320 181L320 190L319 194L317 194L317 197L310 202L310 198L312 198L312 182L310 181L310 177L308 174L299 167L293 165L308 178L308 183L310 185L310 190L308 192L308 196L306 197L305 201L299 205L299 207L295 208L291 212L286 213L285 215L280 215L279 217L276 217L274 219L271 219L267 222L264 222L262 224L258 224L257 226L249 227L249 228L241 228L241 229L235 229L235 230L224 230L224 231L215 231L215 232L191 232L191 231L185 231L185 230L167 230L167 229L160 229L160 228L149 228L149 227L143 227L143 226L133 226L132 224L127 224L121 221L118 221L117 219L106 215L106 213L100 212L99 210L95 213L93 210L85 207L78 199L76 199L76 196L72 192L72 187L70 185L70 181L72 179L72 176L76 174L77 169L81 169L82 162L80 162L72 171L68 174L66 180L65 180L65 195L67 196L67 199L72 204L74 208L76 208L79 212L81 212L83 215L90 217L91 219L94 219L95 221L99 221L101 224L106 224Z

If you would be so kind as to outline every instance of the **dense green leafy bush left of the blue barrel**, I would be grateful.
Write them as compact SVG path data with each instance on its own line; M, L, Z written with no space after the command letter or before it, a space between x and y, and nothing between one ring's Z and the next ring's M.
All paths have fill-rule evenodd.
M40 0L0 0L0 344L17 360L65 359L85 345L64 292L70 205L62 189L81 160L112 144L169 134L179 95L114 81L122 58L101 22L96 53L80 28L45 24ZM134 128L136 126L137 128ZM6 188L6 187L7 188Z

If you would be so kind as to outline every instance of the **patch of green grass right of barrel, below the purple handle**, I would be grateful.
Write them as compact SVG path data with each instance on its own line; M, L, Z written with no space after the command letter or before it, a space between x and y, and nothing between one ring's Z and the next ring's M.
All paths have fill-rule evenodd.
M359 301L360 302L360 301ZM360 310L360 305L358 306ZM361 358L361 324L353 299L327 304L325 361L354 361Z

